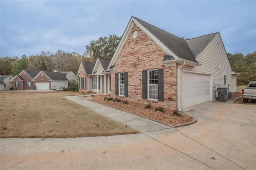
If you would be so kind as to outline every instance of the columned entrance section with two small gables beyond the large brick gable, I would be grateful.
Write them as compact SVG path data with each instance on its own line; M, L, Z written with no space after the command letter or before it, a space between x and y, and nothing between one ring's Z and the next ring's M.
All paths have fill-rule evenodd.
M110 59L98 58L96 63L81 62L78 69L79 91L110 93Z

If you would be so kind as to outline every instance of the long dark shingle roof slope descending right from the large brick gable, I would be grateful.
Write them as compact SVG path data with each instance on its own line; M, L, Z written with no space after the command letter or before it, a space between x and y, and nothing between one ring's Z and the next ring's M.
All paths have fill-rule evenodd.
M149 32L151 32L160 42L162 42L168 49L170 49L177 57L197 62L192 55L190 48L185 40L174 36L160 28L152 26L147 22L144 22L134 17L142 26L144 26Z

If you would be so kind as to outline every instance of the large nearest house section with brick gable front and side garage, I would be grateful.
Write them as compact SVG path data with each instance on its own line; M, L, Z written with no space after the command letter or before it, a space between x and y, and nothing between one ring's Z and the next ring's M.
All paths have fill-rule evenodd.
M238 75L219 32L183 40L135 17L105 71L112 95L179 110L212 101L218 87L235 92Z

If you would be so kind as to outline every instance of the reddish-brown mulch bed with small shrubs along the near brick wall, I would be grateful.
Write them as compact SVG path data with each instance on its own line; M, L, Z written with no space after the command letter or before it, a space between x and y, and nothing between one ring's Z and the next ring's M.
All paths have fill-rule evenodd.
M97 103L101 103L103 105L107 105L110 107L114 107L123 111L127 111L129 113L133 113L135 115L140 115L143 117L148 117L150 119L154 119L156 121L160 121L165 124L170 124L173 126L180 125L183 123L188 123L194 120L194 118L190 115L186 115L180 113L180 116L173 116L172 110L168 108L164 108L164 113L156 112L156 106L151 105L150 109L145 109L146 104L138 103L134 101L128 101L128 104L124 104L122 100L121 102L114 102L104 100L104 97L110 97L110 95L96 95L94 97L83 97L85 100L94 101Z

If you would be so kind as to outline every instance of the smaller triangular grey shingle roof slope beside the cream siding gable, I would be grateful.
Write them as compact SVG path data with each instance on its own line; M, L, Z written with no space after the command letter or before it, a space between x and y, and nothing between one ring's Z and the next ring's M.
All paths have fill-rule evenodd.
M196 58L217 34L218 32L186 40L193 57Z

